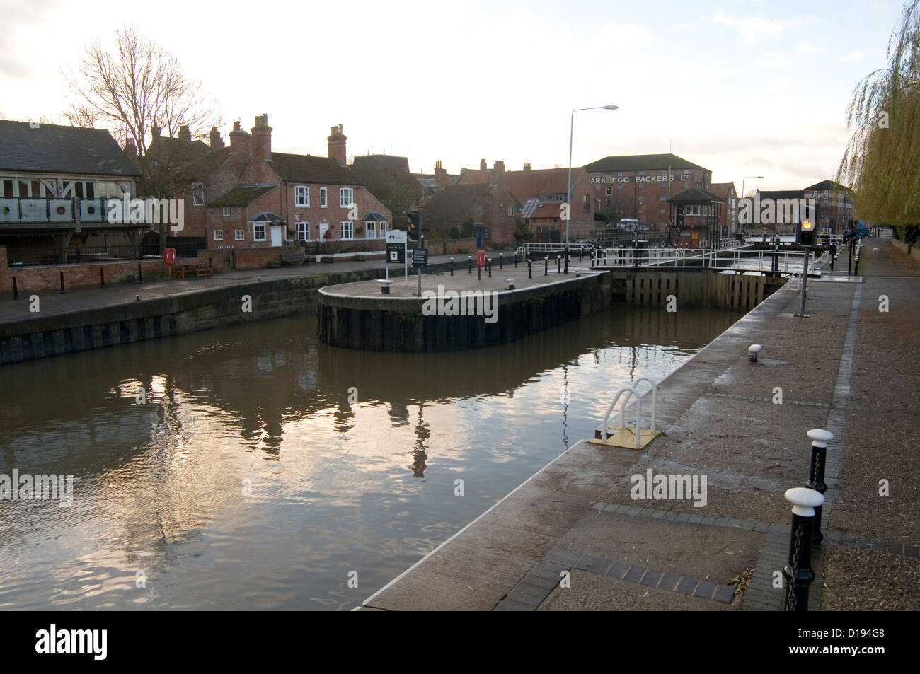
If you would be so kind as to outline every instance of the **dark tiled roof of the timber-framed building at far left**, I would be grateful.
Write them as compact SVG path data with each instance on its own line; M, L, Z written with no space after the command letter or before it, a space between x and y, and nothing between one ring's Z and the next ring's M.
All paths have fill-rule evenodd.
M109 131L0 120L0 169L30 173L140 176Z

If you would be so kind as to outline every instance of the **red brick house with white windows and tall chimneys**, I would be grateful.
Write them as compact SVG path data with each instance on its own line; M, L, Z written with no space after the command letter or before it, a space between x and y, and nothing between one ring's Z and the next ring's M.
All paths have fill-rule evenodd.
M328 157L272 152L268 115L250 131L235 122L229 147L212 133L210 153L190 167L184 236L204 237L208 247L383 247L392 214L346 166L340 125L328 137Z

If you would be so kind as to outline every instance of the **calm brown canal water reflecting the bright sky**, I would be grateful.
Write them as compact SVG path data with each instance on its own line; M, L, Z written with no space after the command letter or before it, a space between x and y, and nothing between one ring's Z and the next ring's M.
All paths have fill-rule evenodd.
M0 609L350 609L738 315L422 355L326 347L310 315L2 368L0 474L75 496L0 500Z

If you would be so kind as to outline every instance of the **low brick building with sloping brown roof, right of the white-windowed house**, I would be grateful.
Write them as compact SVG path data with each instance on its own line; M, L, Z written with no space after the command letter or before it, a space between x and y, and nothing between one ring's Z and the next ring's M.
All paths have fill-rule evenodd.
M434 193L421 209L422 234L450 234L453 227L473 221L473 236L485 246L513 244L520 203L501 185L489 182L448 185Z

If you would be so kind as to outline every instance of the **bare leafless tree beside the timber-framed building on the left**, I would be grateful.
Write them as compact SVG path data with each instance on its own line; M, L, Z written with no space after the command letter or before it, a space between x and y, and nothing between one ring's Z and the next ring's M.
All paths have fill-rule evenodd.
M93 41L64 78L72 97L64 116L78 126L108 128L122 146L132 143L144 196L175 196L198 157L191 143L168 143L164 137L188 127L190 138L199 139L220 124L204 101L201 83L134 26L119 30L114 51Z

